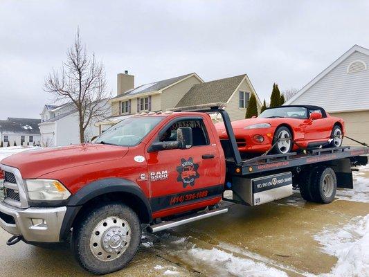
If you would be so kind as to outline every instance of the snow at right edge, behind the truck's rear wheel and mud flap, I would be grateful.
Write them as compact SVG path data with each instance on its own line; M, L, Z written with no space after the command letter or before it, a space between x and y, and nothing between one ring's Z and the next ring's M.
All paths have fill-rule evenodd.
M352 172L354 188L339 188L337 189L336 197L341 200L369 203L369 165L360 166L359 170Z

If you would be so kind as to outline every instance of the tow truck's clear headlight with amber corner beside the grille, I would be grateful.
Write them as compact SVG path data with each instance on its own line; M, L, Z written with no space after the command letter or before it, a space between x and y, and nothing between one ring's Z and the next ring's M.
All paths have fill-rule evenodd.
M60 181L48 179L24 180L30 200L65 200L71 196Z

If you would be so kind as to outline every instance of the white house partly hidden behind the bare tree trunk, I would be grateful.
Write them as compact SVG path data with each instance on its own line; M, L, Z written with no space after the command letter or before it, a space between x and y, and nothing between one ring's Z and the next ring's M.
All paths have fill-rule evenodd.
M109 103L103 100L101 105L109 105ZM107 116L110 114L111 109L107 109ZM42 118L39 123L41 145L60 146L80 143L78 111L72 103L60 106L45 105L40 115ZM105 116L91 120L84 134L86 141L90 141L93 136L99 134L99 128L95 124L103 118Z

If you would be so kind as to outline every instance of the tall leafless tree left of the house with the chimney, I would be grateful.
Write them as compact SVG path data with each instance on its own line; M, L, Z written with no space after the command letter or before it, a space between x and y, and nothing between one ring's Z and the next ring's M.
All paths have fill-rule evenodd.
M94 118L103 118L109 110L107 80L102 62L90 56L82 45L78 28L73 45L66 52L66 61L59 71L48 74L44 90L52 93L57 102L71 102L78 112L80 143Z

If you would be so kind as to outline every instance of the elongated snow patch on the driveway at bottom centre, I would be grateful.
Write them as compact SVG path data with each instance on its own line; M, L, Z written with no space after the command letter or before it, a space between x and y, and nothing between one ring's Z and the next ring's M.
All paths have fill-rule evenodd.
M217 271L217 276L249 276L249 277L287 277L284 271L268 267L262 262L255 262L251 259L233 256L219 249L201 249L192 247L187 251L188 256L194 262L201 265L209 265Z

